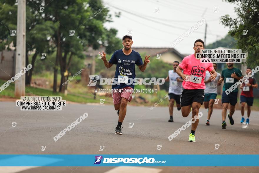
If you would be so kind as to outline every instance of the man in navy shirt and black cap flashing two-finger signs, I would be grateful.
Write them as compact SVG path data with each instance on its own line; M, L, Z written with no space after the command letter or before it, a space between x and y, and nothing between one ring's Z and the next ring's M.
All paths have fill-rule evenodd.
M116 64L114 78L116 78L117 84L112 85L112 98L114 108L119 116L119 121L115 128L115 134L122 134L121 125L126 116L127 103L128 101L131 101L134 89L134 85L130 80L133 80L136 77L135 65L144 72L147 67L147 63L150 62L148 59L150 56L146 55L143 63L140 54L131 49L132 44L133 41L130 35L123 36L122 45L124 48L115 51L109 62L106 60L106 54L102 52L102 60L105 67L110 68L112 65Z

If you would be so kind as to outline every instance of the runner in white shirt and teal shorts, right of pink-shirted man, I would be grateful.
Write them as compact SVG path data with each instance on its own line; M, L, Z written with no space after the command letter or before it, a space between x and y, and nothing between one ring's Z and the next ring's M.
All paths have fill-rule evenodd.
M218 65L216 63L213 63L212 64L215 71L217 70L217 67ZM215 102L215 99L217 97L217 94L218 94L218 88L217 86L220 85L219 83L219 79L220 79L220 73L216 72L217 73L217 77L216 77L216 80L210 80L210 72L206 71L206 76L205 76L205 79L204 79L204 83L205 83L205 90L204 90L204 93L205 93L205 98L204 98L204 107L205 109L209 108L208 109L208 119L207 119L207 122L206 122L206 125L209 126L210 125L210 116L212 114L212 110L213 110L213 104Z

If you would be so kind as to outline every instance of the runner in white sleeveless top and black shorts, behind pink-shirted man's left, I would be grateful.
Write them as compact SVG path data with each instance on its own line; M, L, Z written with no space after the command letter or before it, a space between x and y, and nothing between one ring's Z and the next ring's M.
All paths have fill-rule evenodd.
M169 100L170 119L168 120L168 122L174 122L173 109L174 109L175 102L176 102L177 110L180 111L181 109L180 99L181 99L181 93L182 93L183 79L180 76L178 76L175 71L178 65L179 65L178 61L173 62L174 70L169 70L168 76L167 78L165 78L165 81L169 81L168 100Z

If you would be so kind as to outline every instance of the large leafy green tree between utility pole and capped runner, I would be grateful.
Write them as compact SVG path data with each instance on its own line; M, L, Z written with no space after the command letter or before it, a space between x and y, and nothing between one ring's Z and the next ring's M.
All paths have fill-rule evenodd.
M47 3L47 2L46 2ZM44 9L46 20L58 23L54 33L54 43L57 45L57 56L54 68L53 91L57 88L57 67L60 65L61 82L59 92L64 92L65 72L69 70L74 55L84 58L83 51L87 47L98 49L100 45L115 47L115 29L104 28L105 22L111 22L109 10L101 0L64 0L48 4ZM69 30L75 30L75 36L69 36ZM107 32L108 31L108 32ZM111 32L110 32L111 31ZM108 33L108 34L107 34ZM112 50L111 48L111 50Z

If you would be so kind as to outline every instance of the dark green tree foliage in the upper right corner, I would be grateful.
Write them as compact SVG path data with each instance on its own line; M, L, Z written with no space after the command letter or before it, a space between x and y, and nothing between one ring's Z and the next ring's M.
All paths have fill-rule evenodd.
M236 18L228 14L221 17L221 23L229 27L230 36L237 40L237 48L242 52L248 52L246 63L249 66L257 66L259 63L259 3L257 0L225 0L236 4ZM248 30L243 34L243 30Z

